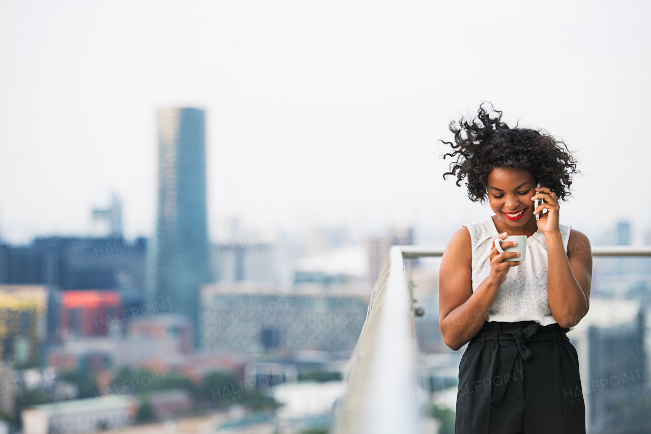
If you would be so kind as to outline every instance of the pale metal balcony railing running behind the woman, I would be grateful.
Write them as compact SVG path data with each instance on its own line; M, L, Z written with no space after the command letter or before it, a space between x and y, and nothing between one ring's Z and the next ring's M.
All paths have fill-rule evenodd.
M419 433L418 349L405 259L442 256L444 251L445 246L391 247L371 293L331 433ZM651 246L595 246L590 251L593 257L651 256Z

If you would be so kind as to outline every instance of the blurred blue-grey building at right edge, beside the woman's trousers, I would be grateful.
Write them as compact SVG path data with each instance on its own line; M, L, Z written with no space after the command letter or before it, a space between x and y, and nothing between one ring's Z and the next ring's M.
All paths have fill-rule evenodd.
M579 356L581 389L563 391L563 405L585 404L590 434L648 433L651 323L637 299L590 300L568 338Z

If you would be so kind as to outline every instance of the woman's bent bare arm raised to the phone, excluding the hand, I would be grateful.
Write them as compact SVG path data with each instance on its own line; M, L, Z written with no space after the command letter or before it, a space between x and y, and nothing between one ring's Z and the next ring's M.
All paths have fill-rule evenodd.
M583 233L570 230L565 252L561 233L546 233L547 297L551 314L562 327L572 327L590 308L592 248Z

